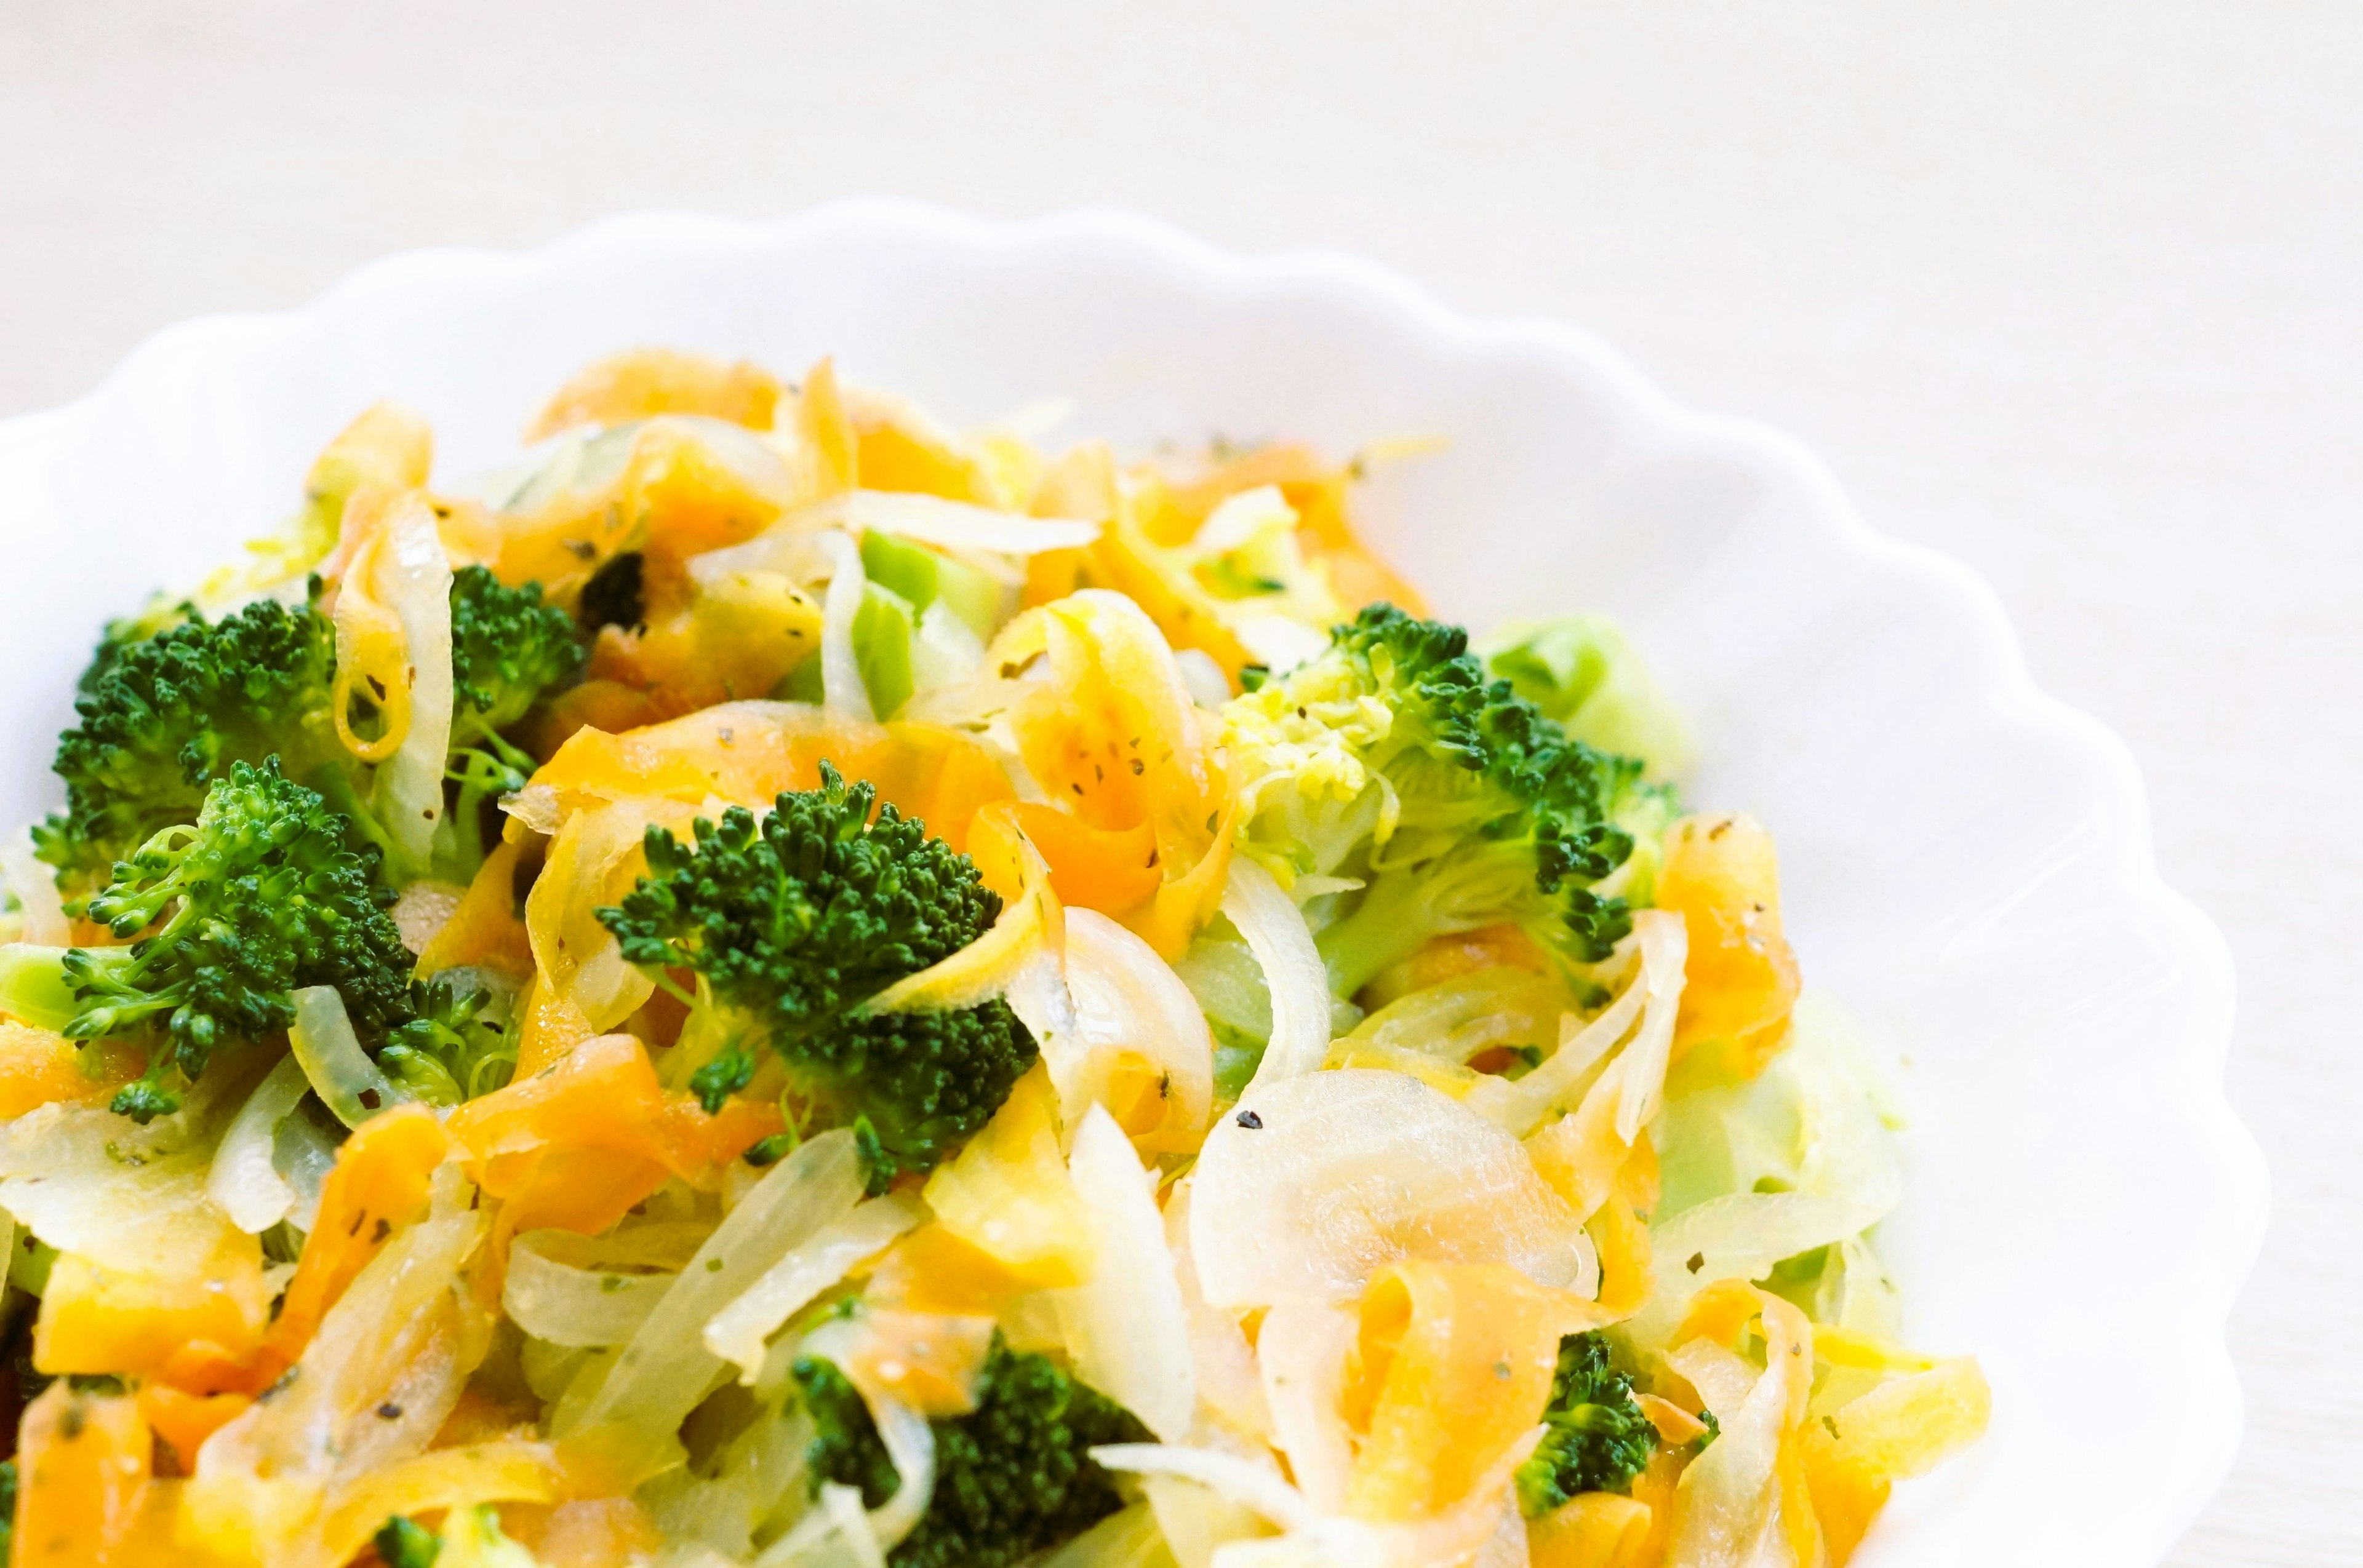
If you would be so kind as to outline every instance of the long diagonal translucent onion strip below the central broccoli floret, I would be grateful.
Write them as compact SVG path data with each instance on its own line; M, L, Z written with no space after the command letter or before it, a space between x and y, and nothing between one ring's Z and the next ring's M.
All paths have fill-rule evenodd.
M598 1391L560 1407L555 1436L600 1433L614 1445L619 1464L645 1464L650 1474L662 1469L683 1417L723 1370L723 1360L707 1348L704 1325L794 1247L851 1214L860 1195L862 1169L851 1131L822 1133L775 1164L697 1249Z

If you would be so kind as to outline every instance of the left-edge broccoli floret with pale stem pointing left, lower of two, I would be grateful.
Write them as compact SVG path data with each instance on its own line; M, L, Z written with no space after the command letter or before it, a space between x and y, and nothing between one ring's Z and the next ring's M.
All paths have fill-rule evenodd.
M260 1039L295 1018L291 992L333 985L364 1039L414 1018L411 954L385 914L366 852L317 791L232 763L194 827L168 827L116 867L90 900L130 947L14 945L0 963L0 1011L69 1039L156 1037L147 1077L113 1108L147 1122L180 1105L215 1046Z

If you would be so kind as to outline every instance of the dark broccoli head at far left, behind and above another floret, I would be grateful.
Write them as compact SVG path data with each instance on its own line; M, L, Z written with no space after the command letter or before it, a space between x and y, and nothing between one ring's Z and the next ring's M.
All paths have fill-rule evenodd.
M66 810L33 829L69 895L187 822L232 763L279 756L310 772L340 756L328 690L336 633L310 605L255 600L220 621L194 612L142 640L109 631L57 741Z

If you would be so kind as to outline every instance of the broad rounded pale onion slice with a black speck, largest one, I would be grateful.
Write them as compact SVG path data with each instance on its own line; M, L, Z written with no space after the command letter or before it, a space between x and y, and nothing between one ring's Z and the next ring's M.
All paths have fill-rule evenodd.
M1397 1259L1574 1287L1590 1252L1526 1148L1458 1100L1345 1067L1250 1086L1207 1133L1191 1254L1215 1306L1354 1301Z

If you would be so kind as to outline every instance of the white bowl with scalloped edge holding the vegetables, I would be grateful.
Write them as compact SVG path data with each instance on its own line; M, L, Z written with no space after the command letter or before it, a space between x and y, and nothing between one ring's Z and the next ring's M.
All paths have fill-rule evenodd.
M1378 548L1477 626L1621 616L1697 720L1692 798L1770 822L1810 982L1907 1063L1888 1235L1912 1337L1983 1358L1994 1426L1902 1488L1857 1561L2141 1566L2191 1523L2238 1440L2224 1315L2266 1193L2221 1091L2231 959L2150 867L2131 758L2030 685L1966 569L1871 536L1805 451L1673 409L1562 326L1108 213L862 201L399 255L298 312L175 326L92 397L0 425L0 734L21 746L0 817L52 803L99 621L286 515L362 406L423 409L449 477L633 342L785 373L834 352L962 423L1073 397L1080 432L1127 446L1446 435L1366 486Z

